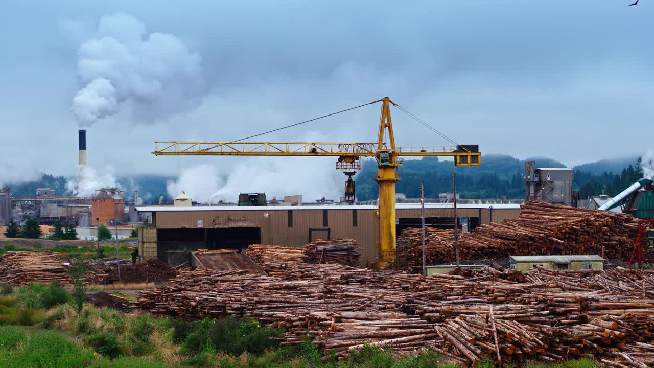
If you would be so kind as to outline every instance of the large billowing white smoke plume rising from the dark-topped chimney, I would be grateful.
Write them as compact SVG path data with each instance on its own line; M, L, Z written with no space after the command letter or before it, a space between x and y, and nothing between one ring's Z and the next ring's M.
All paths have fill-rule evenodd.
M203 91L198 54L124 13L100 18L94 37L79 46L77 76L82 88L71 111L80 126L122 111L151 122L184 111Z

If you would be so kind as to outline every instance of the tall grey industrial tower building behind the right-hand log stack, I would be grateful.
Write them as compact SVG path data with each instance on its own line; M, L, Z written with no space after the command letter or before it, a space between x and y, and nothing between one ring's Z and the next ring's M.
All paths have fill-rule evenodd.
M576 206L572 192L574 172L569 168L534 168L534 161L525 162L525 202Z

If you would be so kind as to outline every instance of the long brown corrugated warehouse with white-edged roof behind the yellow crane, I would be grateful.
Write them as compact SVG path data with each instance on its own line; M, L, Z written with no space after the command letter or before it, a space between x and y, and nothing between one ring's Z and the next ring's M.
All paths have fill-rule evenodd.
M166 260L174 249L245 249L250 244L300 247L314 239L351 238L360 248L360 266L378 259L379 208L377 206L139 206L152 214L150 229L139 236L139 255ZM396 204L396 228L421 223L420 204ZM516 204L463 204L457 215L463 230L516 219ZM425 204L428 226L453 227L452 204Z

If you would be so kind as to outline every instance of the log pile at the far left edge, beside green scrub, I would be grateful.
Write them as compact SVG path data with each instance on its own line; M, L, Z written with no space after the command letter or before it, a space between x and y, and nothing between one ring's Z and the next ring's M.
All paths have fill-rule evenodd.
M66 268L52 251L9 251L0 261L0 284L68 284Z

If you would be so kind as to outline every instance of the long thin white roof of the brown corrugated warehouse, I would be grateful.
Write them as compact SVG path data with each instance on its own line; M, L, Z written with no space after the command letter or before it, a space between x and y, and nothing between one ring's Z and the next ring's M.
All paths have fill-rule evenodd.
M377 206L372 204L366 205L317 205L317 206L193 206L193 207L173 207L173 206L137 206L138 212L177 212L177 211L279 211L279 210L377 210ZM402 209L419 209L420 203L398 203L395 205L398 210ZM425 203L426 209L453 208L451 203ZM519 204L457 204L456 208L481 208L494 210L519 210Z

